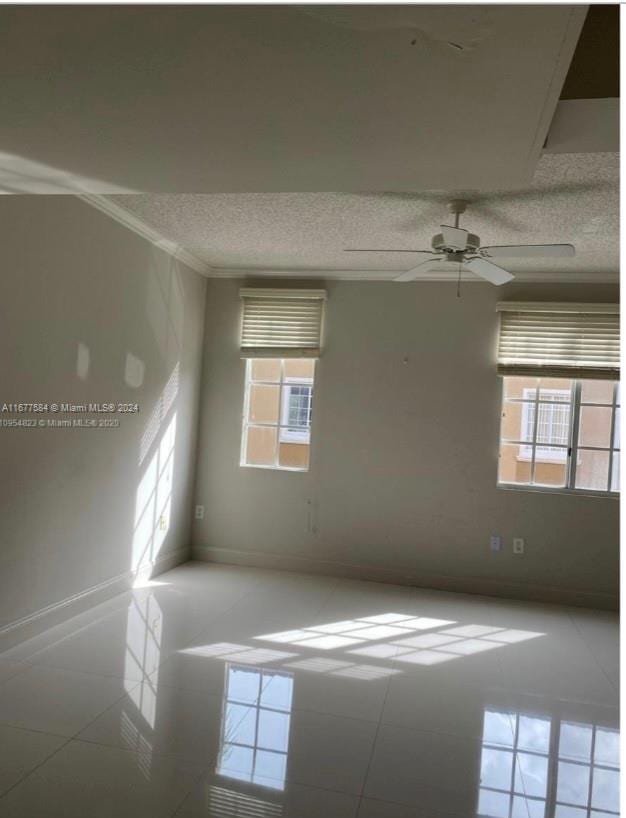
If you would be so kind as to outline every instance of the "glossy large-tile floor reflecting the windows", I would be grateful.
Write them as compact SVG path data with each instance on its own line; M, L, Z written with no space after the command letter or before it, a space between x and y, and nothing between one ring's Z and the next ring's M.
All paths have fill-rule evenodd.
M614 818L617 616L188 563L0 655L6 818Z

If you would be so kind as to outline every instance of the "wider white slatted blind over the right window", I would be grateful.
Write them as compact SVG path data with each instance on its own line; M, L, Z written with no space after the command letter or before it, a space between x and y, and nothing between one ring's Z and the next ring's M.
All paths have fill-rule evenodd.
M499 375L619 379L619 305L502 302Z

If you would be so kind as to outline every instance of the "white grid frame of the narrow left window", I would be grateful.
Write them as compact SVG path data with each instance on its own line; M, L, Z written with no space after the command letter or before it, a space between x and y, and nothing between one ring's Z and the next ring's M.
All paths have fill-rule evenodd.
M296 472L300 474L306 474L310 471L311 468L311 429L313 425L313 415L312 415L312 404L313 404L313 392L315 389L315 370L317 369L317 358L310 358L306 360L313 361L313 377L306 378L306 377L293 377L293 376L285 376L285 362L286 361L293 361L293 360L300 360L300 358L284 358L278 355L276 356L264 356L262 360L269 360L269 361L279 361L280 362L280 381L272 381L272 380L263 380L263 379L252 379L251 377L251 370L252 366L255 361L260 360L260 358L246 358L245 360L245 367L244 367L244 400L243 400L243 412L241 417L241 451L239 455L239 465L241 468L245 469L268 469L270 471L286 471L286 472ZM256 384L267 385L267 386L277 386L279 388L278 393L278 423L267 423L263 421L250 421L248 420L250 414L250 392L251 387ZM308 429L308 440L304 440L303 437L298 437L297 440L295 439L287 439L287 437L283 437L284 432L288 432L289 426L288 424L283 423L283 407L284 407L284 387L291 387L291 386L310 386L311 387L311 425ZM275 455L275 462L273 464L267 463L247 463L246 462L246 451L248 448L248 429L250 426L253 427L266 427L269 429L276 429L276 455ZM293 433L299 434L299 433ZM278 462L279 452L280 452L280 444L281 443L292 443L292 444L301 444L301 445L308 445L309 446L309 462L306 468L302 468L300 466L281 466Z

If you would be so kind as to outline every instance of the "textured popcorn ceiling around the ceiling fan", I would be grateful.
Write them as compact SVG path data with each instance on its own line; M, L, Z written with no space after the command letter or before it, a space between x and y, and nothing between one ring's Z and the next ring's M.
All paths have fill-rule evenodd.
M428 249L450 223L446 202L470 205L461 226L483 245L571 243L566 259L510 259L519 273L612 274L619 269L618 154L547 154L524 190L472 193L143 194L109 197L218 275L322 273L393 277L424 256L344 253L348 247ZM441 269L433 266L433 271ZM379 272L380 275L371 275Z

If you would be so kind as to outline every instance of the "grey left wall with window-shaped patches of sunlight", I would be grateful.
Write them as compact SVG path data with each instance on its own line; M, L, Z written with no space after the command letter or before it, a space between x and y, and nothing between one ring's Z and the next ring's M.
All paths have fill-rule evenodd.
M139 562L187 558L206 282L71 196L0 197L0 248L0 403L140 406L105 416L119 428L0 428L1 627L102 583L113 593ZM161 528L150 469L174 415Z

